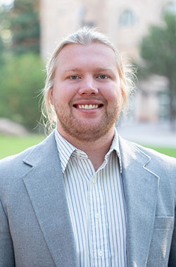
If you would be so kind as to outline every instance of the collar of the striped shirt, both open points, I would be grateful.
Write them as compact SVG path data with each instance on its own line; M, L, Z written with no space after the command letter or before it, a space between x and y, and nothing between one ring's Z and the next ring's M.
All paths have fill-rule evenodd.
M68 161L70 159L70 156L77 156L79 158L84 158L88 159L87 154L84 153L84 151L77 149L76 147L73 146L73 144L70 144L60 133L58 130L55 130L55 139L56 139L56 144L58 148L58 153L61 159L61 168L62 172L65 172L65 168L68 164ZM105 156L105 159L108 159L108 156L111 154L112 151L116 151L119 159L119 164L120 164L120 173L122 173L122 160L120 156L120 149L119 149L119 142L118 142L118 132L115 129L115 135L113 138L113 142L111 144L111 148L109 149L108 153Z

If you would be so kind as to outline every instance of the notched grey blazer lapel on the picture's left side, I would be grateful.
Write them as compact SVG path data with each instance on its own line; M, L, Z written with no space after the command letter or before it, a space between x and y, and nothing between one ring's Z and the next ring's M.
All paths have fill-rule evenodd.
M32 166L23 181L54 263L56 266L77 266L54 133L37 146L24 162Z

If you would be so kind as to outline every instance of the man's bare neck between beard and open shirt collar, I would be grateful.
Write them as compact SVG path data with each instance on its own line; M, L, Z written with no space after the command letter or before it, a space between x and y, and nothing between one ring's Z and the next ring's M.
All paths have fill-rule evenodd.
M74 147L84 151L87 154L89 159L92 161L95 170L97 170L103 163L104 157L108 153L114 137L114 128L109 130L106 135L103 135L103 137L89 142L72 137L59 128L58 132L68 142L70 142L70 144L73 144Z

